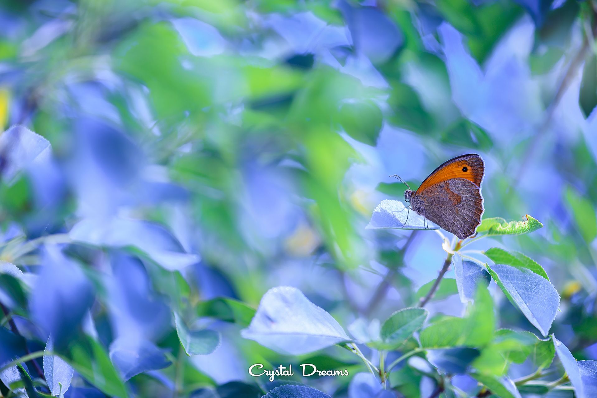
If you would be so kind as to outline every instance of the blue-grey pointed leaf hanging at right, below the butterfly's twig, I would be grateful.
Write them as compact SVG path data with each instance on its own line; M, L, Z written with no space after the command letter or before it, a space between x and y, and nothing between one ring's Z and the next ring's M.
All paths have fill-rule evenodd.
M487 267L510 303L518 307L543 336L558 313L559 294L549 280L528 269L503 264Z

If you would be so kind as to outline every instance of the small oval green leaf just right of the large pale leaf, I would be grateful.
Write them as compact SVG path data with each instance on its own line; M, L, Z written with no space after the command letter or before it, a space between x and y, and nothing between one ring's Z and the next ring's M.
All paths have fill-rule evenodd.
M386 322L381 325L380 337L383 341L382 350L392 350L413 335L414 332L423 326L429 312L423 308L403 308L393 313Z

